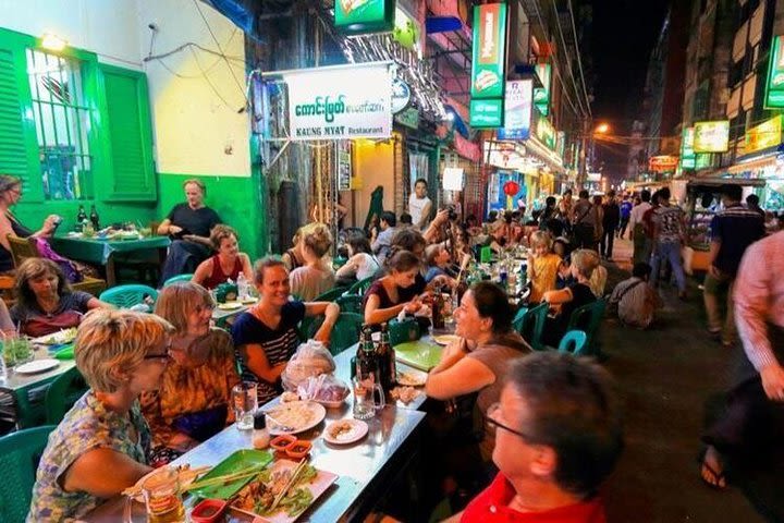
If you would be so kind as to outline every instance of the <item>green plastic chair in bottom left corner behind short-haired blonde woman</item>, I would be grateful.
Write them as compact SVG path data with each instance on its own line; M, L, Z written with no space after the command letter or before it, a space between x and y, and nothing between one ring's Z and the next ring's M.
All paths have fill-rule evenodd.
M0 438L0 521L22 523L29 511L38 462L52 425L27 428Z

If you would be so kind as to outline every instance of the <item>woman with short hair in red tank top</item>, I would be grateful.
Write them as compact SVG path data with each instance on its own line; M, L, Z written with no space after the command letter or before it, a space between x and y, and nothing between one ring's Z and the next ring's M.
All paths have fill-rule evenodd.
M236 281L241 273L252 281L250 258L240 252L237 240L237 233L231 227L222 223L213 227L210 243L218 254L201 262L191 281L205 289L215 289L226 280Z

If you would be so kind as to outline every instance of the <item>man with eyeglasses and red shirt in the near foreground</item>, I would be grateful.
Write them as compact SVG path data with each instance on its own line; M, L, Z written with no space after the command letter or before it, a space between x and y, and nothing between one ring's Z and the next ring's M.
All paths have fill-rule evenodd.
M605 523L597 490L623 448L607 372L568 354L534 353L510 367L486 419L500 472L448 521Z

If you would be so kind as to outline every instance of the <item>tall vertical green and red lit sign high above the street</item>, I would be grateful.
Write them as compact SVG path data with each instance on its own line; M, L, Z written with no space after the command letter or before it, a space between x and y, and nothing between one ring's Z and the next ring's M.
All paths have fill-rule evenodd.
M474 8L473 98L503 98L506 63L506 4Z

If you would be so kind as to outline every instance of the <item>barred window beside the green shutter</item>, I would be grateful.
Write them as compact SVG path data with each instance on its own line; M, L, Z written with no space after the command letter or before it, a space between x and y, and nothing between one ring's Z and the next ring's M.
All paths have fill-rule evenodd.
M88 197L91 170L79 62L27 49L27 76L38 138L44 197L51 200Z

